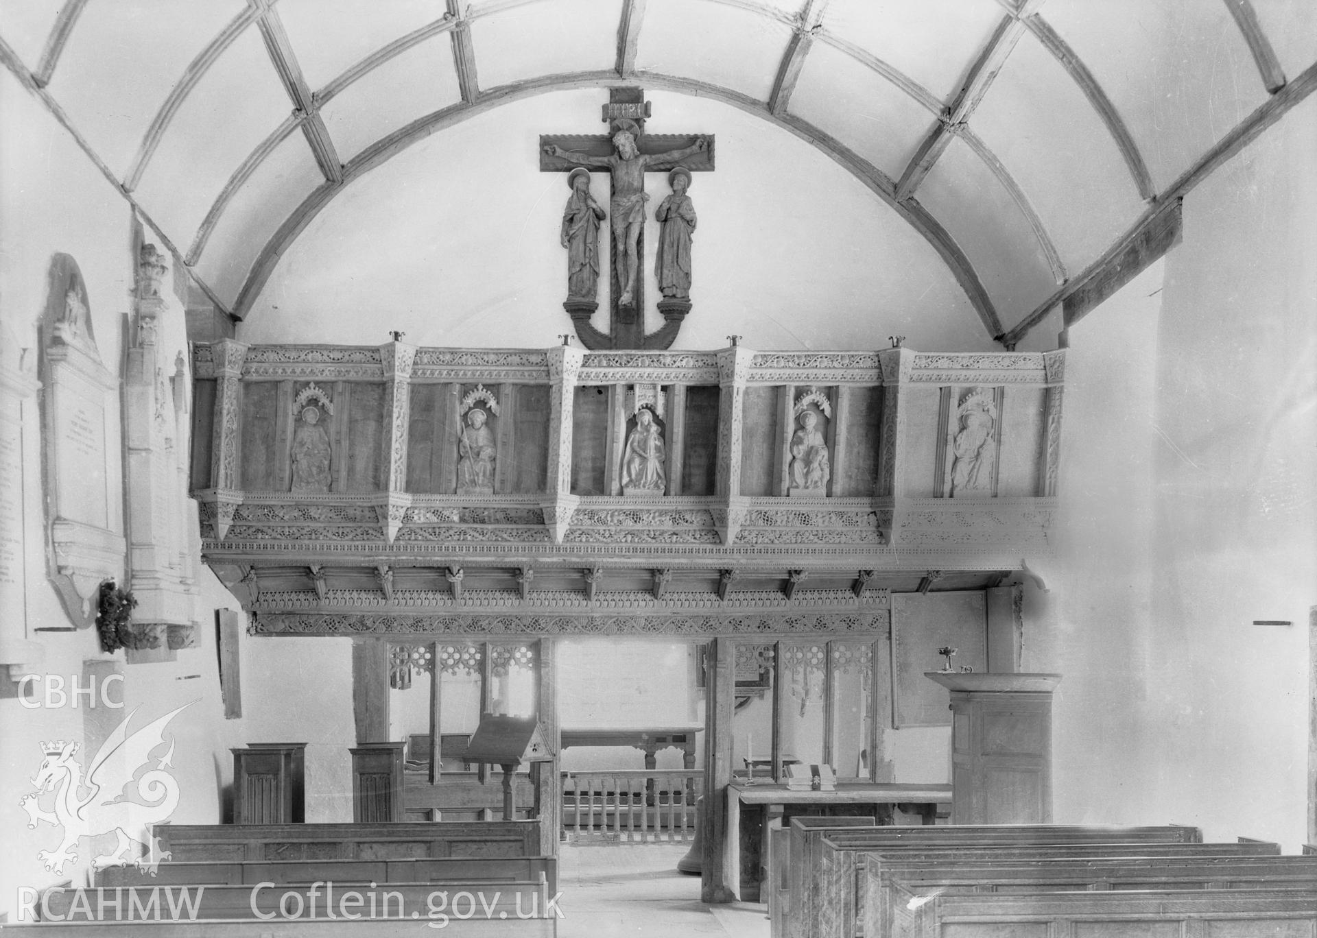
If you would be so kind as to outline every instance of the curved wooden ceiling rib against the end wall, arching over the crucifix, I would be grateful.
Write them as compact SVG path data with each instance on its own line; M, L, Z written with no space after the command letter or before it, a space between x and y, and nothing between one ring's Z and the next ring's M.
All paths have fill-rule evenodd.
M723 88L719 86L709 84L705 82L695 82L686 78L676 78L672 75L662 75L657 72L641 72L636 75L637 82L643 82L652 87L665 88L668 91L676 91L678 94L689 94L703 97L710 97L714 100L723 101L724 104L731 104L741 111L752 113L755 116L763 117L764 120L772 121L777 126L789 130L805 142L813 145L840 166L849 170L857 179L860 179L872 192L886 202L892 208L894 208L911 227L915 228L938 252L947 266L951 269L960 283L961 289L965 290L971 304L973 306L976 314L984 323L984 328L993 337L997 337L1002 332L1001 320L997 316L997 311L993 307L992 299L988 295L986 289L975 273L973 266L969 263L968 257L955 242L950 233L925 209L917 200L911 199L907 202L898 202L896 199L896 186L890 178L882 174L877 167L874 167L868 161L863 159L852 150L842 145L840 142L832 140L826 133L815 128L814 125L803 121L798 117L789 115L776 116L769 113L764 103L741 95L730 88ZM477 115L485 113L500 104L508 104L515 100L522 100L524 97L531 97L535 95L547 94L551 91L568 91L574 88L591 88L591 87L610 87L618 84L630 84L630 82L623 82L612 71L594 71L594 72L578 72L569 75L549 75L539 79L531 79L525 82L516 82L499 88L493 88L483 92L479 99L474 103L460 103L452 107L444 108L443 111L436 111L432 115L427 115L416 121L412 121L404 128L395 130L386 137L375 141L365 150L362 150L357 157L354 157L348 165L344 166L342 183L325 183L317 187L307 199L284 220L279 229L271 236L266 242L265 248L257 256L255 262L252 265L252 270L248 273L248 278L238 291L237 300L233 304L233 314L237 317L242 317L250 311L252 304L255 302L257 295L259 295L270 274L274 273L274 267L283 252L292 244L296 236L306 228L307 224L333 199L333 196L349 182L357 179L377 166L387 162L390 158L411 146L419 140L428 137L429 134L441 130L453 124L465 121Z

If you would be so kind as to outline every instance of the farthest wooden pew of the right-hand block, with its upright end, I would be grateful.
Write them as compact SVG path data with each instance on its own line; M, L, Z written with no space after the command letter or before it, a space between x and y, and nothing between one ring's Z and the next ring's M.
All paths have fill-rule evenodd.
M788 912L788 935L790 938L819 938L819 895L822 877L822 841L830 831L799 823L803 818L792 819L790 834L790 908ZM844 829L835 831L844 837ZM1098 842L1146 842L1146 843L1185 843L1201 841L1202 834L1196 827L1085 827L1069 825L960 825L960 826L921 826L921 827L873 827L853 831L853 837L869 846L915 843L951 846L972 843L1098 843ZM868 838L872 838L869 841ZM839 887L839 892L840 892ZM855 892L856 877L849 876L849 891ZM853 906L855 900L851 900ZM853 921L853 920L852 920Z

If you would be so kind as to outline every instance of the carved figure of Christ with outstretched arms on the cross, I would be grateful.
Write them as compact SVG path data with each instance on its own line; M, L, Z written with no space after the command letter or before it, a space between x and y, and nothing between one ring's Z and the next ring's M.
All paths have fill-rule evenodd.
M652 163L673 163L685 159L693 153L702 153L709 149L709 141L699 137L691 146L668 153L641 153L636 148L636 138L630 130L618 130L612 134L612 146L616 153L607 157L594 157L589 153L572 153L564 150L557 144L549 144L544 153L551 157L566 159L577 166L594 166L607 169L612 177L611 217L608 223L612 228L614 257L622 267L619 270L619 283L622 296L618 306L632 306L636 286L636 273L640 269L639 241L640 232L645 224L645 169Z

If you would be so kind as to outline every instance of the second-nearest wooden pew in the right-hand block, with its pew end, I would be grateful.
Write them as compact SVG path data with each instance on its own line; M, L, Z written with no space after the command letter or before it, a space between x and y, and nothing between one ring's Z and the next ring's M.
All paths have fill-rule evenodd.
M1317 856L1162 856L1031 860L1026 863L871 856L865 938L918 934L918 909L936 895L982 892L1314 889Z

